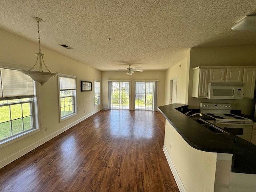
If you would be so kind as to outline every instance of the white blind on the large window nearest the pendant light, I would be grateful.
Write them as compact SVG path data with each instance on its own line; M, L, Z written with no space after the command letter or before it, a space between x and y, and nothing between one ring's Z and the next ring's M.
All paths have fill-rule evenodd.
M34 81L18 70L0 68L0 99L33 98Z

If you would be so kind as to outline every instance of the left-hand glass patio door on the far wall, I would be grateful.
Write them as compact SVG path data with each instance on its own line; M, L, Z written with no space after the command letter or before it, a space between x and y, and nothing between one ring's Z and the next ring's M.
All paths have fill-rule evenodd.
M129 110L130 82L111 82L110 108Z

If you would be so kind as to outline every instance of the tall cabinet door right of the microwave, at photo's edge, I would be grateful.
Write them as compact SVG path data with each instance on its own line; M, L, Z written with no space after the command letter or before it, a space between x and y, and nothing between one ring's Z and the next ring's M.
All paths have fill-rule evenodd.
M254 97L254 87L255 87L255 68L245 68L244 69L244 94L243 98L253 98Z

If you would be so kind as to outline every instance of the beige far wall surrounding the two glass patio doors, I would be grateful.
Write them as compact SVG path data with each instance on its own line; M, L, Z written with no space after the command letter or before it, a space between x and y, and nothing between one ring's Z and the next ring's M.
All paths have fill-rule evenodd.
M164 105L164 86L165 86L165 72L164 71L143 71L135 72L134 74L127 75L126 71L116 72L102 72L102 108L108 108L108 80L130 80L131 81L131 94L134 95L134 81L135 80L159 80L158 81L158 96L157 106ZM133 99L133 98L132 98ZM133 106L131 106L133 110Z

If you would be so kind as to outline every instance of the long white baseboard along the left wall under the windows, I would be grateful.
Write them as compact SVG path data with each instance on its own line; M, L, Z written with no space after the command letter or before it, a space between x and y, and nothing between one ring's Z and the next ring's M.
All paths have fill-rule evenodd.
M98 110L95 110L94 112L91 112L90 114L76 120L75 122L65 126L64 128L61 128L60 130L46 136L45 138L42 138L41 140L38 140L37 142L31 144L30 146L27 146L26 148L20 150L19 152L16 152L15 154L12 154L11 156L5 158L0 162L0 168L8 165L9 163L13 162L14 160L20 158L21 156L27 154L28 152L34 150L35 148L39 147L40 145L44 144L45 142L51 140L52 138L56 137L57 135L63 133L64 131L68 130L69 128L73 127L74 125L80 123L81 121L85 120L86 118L92 116L93 114L99 112L102 110L101 108Z

